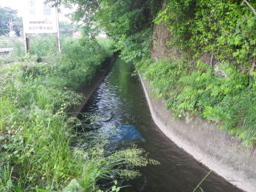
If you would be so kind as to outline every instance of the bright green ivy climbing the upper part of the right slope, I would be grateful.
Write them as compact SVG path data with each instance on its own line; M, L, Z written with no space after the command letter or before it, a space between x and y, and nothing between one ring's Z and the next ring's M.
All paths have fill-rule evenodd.
M249 70L256 56L256 19L240 0L171 0L154 20L165 21L171 44L188 56L203 53ZM256 7L256 1L249 1Z

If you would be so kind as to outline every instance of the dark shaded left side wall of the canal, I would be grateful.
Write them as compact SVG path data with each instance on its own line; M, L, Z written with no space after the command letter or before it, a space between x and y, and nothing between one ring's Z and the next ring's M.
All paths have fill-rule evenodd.
M90 99L91 95L94 93L100 82L102 82L102 79L105 77L105 75L108 73L108 71L111 69L112 64L114 63L116 59L116 55L114 55L111 58L105 59L105 61L102 63L102 70L99 70L93 79L91 79L90 85L85 85L79 88L79 93L82 93L84 95L84 99L82 99L82 102L79 105L73 106L70 108L69 113L72 116L78 116L81 112L82 108L86 105L88 100Z

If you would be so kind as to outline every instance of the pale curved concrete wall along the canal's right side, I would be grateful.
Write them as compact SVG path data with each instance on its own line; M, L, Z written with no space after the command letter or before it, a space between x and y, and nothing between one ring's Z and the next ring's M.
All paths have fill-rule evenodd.
M226 130L202 119L189 124L174 119L163 99L156 99L149 83L140 76L151 116L160 130L197 161L244 191L256 191L256 155Z

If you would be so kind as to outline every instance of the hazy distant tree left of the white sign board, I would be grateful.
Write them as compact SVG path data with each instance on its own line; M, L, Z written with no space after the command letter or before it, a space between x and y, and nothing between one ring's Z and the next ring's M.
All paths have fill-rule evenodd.
M5 36L10 32L10 19L13 21L13 30L17 36L21 35L22 18L17 16L17 10L9 7L0 7L0 36Z

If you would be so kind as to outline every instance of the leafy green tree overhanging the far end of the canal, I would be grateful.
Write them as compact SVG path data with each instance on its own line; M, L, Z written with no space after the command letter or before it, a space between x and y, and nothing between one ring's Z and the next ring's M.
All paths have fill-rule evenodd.
M114 40L125 62L138 63L151 53L153 20L163 0L47 0L52 5L75 5L73 19L85 24L86 36L103 30Z

